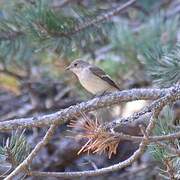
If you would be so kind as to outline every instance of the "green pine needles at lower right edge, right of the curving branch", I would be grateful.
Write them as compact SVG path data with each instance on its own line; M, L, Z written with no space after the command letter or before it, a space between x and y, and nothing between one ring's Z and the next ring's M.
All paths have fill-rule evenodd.
M154 137L155 135L158 135L157 137L161 137L161 140L165 140L168 137L172 138L173 136L171 135L173 134L178 135L179 132L176 129L169 126L169 124L173 124L174 120L172 109L166 107L161 114L162 116L161 118L159 118L159 122L156 124L156 127L153 131ZM154 141L152 144L150 144L148 149L149 152L153 155L154 159L164 165L164 170L167 172L171 172L168 173L168 176L170 178L172 175L175 176L175 173L178 172L178 157L180 156L179 140L178 138L171 138L167 139L164 142ZM171 163L170 166L167 166L168 162Z

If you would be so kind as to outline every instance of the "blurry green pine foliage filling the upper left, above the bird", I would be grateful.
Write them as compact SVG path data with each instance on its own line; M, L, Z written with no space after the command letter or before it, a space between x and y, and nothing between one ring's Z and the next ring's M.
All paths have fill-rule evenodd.
M68 59L86 53L93 56L94 50L108 42L112 27L107 22L83 28L96 15L96 9L91 12L77 5L57 11L51 1L10 2L0 19L1 63L28 71L41 65L49 52Z

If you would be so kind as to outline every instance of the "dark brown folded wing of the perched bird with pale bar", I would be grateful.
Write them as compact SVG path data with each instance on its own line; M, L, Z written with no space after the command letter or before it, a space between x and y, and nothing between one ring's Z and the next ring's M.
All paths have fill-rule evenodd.
M102 80L106 81L108 84L110 84L114 88L120 90L120 88L116 85L116 83L102 69L100 69L96 66L92 66L92 67L90 67L90 71L94 75L96 75L99 78L101 78Z

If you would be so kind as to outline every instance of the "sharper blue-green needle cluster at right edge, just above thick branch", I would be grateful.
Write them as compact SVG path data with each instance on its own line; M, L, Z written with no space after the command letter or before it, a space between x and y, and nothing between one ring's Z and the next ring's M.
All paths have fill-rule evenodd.
M180 80L180 46L170 51L160 46L147 49L144 53L147 71L154 83L161 87L169 87Z

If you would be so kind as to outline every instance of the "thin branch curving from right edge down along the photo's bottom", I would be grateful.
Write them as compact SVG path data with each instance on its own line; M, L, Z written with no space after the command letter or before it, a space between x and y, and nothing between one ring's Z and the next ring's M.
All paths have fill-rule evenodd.
M91 170L91 171L83 171L83 172L38 172L38 171L32 171L30 174L32 176L51 176L51 177L81 177L81 176L97 176L100 174L105 174L108 172L116 171L119 169L122 169L124 167L129 166L134 161L136 161L146 150L147 145L149 144L149 136L152 133L153 128L155 127L156 121L158 120L158 115L160 111L163 109L163 107L169 102L173 102L180 99L180 87L175 86L169 93L167 93L166 96L159 99L159 101L156 103L156 106L154 106L154 109L152 110L153 115L151 116L151 119L149 121L149 124L144 131L143 140L141 141L139 148L134 152L132 156L130 156L128 159L126 159L123 162L120 162L118 164L105 167L102 169L97 170Z

